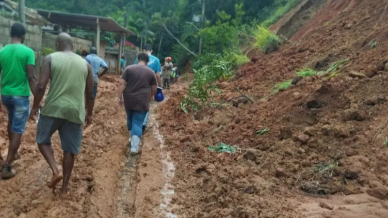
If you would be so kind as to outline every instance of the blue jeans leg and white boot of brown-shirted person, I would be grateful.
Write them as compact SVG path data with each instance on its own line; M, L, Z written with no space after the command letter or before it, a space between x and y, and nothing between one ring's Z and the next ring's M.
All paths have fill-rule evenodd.
M132 116L132 139L130 152L132 155L139 154L140 139L143 135L142 123L147 111L134 110Z

